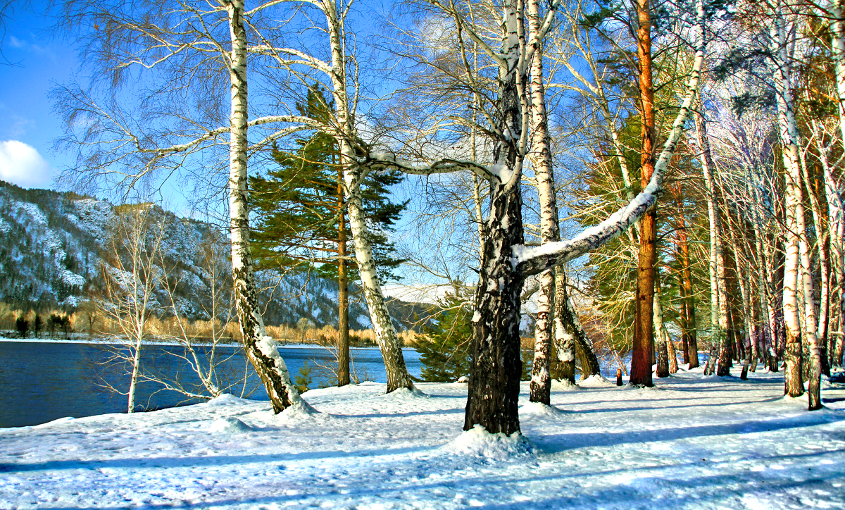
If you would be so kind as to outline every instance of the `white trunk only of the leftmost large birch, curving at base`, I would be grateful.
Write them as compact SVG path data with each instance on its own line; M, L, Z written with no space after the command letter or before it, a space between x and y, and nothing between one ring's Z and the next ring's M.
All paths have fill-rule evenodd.
M249 248L247 208L247 34L243 22L243 0L227 5L232 36L229 77L232 86L232 116L229 142L229 214L232 235L232 278L237 317L243 335L243 350L259 375L276 413L292 405L308 406L291 382L285 362L267 336L259 313L253 257Z

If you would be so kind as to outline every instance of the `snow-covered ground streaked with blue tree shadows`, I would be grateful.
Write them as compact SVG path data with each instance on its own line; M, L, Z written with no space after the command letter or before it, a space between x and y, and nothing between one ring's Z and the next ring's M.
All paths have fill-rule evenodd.
M845 390L825 387L810 413L782 373L587 381L554 409L524 385L527 444L459 437L459 384L63 419L0 430L0 508L842 508Z

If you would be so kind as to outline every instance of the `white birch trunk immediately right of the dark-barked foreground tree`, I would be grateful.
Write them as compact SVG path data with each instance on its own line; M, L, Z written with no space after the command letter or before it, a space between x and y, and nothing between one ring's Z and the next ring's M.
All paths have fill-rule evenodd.
M546 93L542 83L542 41L537 39L542 19L539 0L529 0L527 8L528 44L534 49L531 62L531 130L532 150L529 157L534 169L537 195L540 206L540 240L550 243L560 240L558 228L558 205L554 196L554 173L552 151L548 138L548 115ZM537 296L537 326L535 333L534 362L530 385L531 402L549 404L552 389L552 315L554 295L554 274L552 269L540 275L540 290Z

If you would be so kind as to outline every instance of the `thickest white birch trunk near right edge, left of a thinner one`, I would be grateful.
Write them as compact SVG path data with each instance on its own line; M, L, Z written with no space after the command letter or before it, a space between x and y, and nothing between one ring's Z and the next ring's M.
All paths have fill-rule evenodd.
M782 143L785 172L786 258L783 266L783 322L787 341L785 348L786 373L784 392L790 397L804 394L801 380L801 324L798 308L799 283L799 225L796 208L801 203L801 171L799 169L798 126L793 109L791 63L788 37L781 4L777 4L772 26L775 41L775 88L777 93L777 121Z

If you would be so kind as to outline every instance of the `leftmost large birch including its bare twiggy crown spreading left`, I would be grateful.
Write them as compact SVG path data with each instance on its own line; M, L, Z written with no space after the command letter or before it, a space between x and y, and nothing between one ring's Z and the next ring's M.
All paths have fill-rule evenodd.
M215 149L228 135L226 188L237 317L244 352L279 413L292 405L309 408L292 384L258 309L249 247L248 129L294 123L278 129L274 136L279 137L303 129L310 121L293 115L249 119L248 27L258 25L254 18L274 5L267 2L247 10L243 0L174 1L166 6L139 3L123 8L68 3L66 23L86 41L85 53L92 57L91 62L112 79L112 94L98 101L92 93L95 87L68 86L57 90L57 98L68 126L63 144L78 154L81 175L77 177L89 182L123 189L149 184L156 172L172 173L192 162L196 165L200 156L212 161L222 156ZM144 76L153 82L161 80L152 85L150 100L140 103L139 111L132 114L121 108L121 89L116 86L126 80L129 69L142 74L150 71ZM221 84L228 85L231 92L227 113L223 107L216 109L213 102L199 112L190 106L195 104L193 94L215 90ZM226 104L222 96L218 99ZM187 108L174 109L171 101ZM198 115L192 118L191 113ZM215 121L226 123L209 125ZM73 178L74 170L65 177Z

